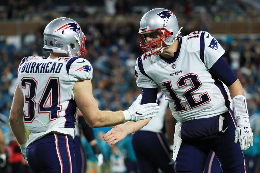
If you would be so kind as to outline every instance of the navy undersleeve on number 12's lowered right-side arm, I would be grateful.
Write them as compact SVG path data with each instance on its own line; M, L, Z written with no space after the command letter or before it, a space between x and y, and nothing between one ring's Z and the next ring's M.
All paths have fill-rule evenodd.
M222 57L213 64L209 71L226 86L231 86L237 80L237 76Z

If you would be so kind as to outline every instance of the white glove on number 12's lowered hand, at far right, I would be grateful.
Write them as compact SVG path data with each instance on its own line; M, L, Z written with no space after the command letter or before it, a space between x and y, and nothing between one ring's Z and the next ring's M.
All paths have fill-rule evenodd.
M237 128L235 133L235 143L237 143L239 139L241 150L246 150L250 146L253 146L254 137L248 118L237 119Z

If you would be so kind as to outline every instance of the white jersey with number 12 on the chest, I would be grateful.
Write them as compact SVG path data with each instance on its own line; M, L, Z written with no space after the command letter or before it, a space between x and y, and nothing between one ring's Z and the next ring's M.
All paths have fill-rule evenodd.
M156 55L137 59L137 86L159 86L177 121L219 115L228 111L229 101L223 83L209 69L224 52L208 32L196 31L179 37L175 62L168 63Z

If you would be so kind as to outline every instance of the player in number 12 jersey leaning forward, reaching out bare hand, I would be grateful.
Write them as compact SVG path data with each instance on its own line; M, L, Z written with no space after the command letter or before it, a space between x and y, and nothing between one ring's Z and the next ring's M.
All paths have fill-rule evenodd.
M137 86L142 87L141 104L156 101L157 87L169 101L178 121L173 151L176 172L203 172L211 150L223 172L246 172L242 150L253 145L253 135L242 86L210 33L195 31L178 37L180 29L174 13L164 8L142 17L139 36L144 54L135 67ZM234 114L221 81L230 91ZM122 139L122 131L132 133L148 121L112 128L104 140L115 144Z

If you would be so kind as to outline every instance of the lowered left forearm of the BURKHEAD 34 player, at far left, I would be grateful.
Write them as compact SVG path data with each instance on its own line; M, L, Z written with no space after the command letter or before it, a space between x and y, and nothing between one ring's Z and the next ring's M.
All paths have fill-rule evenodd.
M19 118L14 118L14 116L10 115L9 123L13 135L17 139L19 144L24 144L27 141L27 136L25 133L23 117L20 116Z

